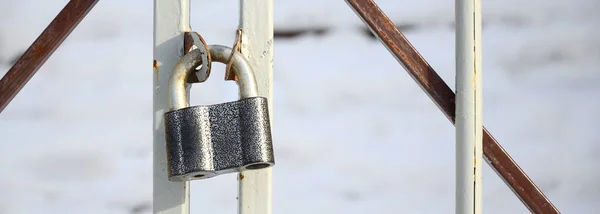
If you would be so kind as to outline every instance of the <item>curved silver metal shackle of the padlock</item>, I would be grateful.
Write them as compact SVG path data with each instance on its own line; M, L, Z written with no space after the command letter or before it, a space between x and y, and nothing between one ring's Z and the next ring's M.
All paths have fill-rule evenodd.
M213 62L216 61L226 64L229 60L229 56L232 54L231 48L222 45L210 45L208 49ZM239 98L258 96L254 72L252 72L252 67L250 67L246 57L238 52L233 54L231 60L231 69L238 78L236 83L239 89ZM200 49L190 51L181 57L177 64L175 64L173 73L171 73L171 78L169 79L171 110L189 106L189 103L187 102L187 88L189 85L186 80L189 75L194 75L194 72L197 72L196 68L202 64ZM208 74L206 74L206 76L208 76Z

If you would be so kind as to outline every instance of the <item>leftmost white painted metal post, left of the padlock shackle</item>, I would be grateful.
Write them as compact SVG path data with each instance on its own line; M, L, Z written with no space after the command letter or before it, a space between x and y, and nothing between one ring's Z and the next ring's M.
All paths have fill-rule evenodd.
M154 160L153 209L158 214L189 213L189 182L167 176L163 114L169 111L168 83L175 63L183 56L183 33L190 29L189 0L154 0Z

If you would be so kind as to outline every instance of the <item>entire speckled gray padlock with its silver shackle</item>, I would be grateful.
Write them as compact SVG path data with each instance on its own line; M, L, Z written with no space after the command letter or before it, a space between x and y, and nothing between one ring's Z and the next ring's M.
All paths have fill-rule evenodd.
M209 46L212 61L226 63L232 49ZM233 54L239 100L189 107L189 75L201 63L201 49L183 56L169 80L171 111L164 114L170 181L206 179L275 164L267 98L259 97L246 58ZM208 76L208 74L206 74Z

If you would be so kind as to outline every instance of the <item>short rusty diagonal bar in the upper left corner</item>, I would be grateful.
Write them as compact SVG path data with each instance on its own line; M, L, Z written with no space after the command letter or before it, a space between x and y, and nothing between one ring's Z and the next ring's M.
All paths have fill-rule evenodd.
M0 113L98 0L71 0L0 80Z

